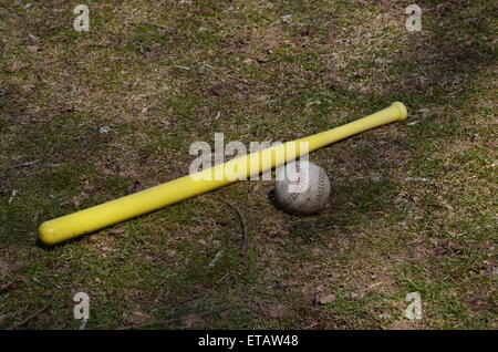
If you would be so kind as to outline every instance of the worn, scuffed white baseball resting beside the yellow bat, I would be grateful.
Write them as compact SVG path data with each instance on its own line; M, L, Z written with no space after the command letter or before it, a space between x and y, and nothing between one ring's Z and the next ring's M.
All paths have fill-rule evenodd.
M325 170L313 163L289 163L277 173L274 196L280 207L288 213L318 214L328 205L330 193Z

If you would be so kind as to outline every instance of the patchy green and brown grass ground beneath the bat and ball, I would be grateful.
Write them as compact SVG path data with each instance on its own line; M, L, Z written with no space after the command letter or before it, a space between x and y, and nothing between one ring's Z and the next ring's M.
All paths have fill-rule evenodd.
M422 32L403 1L180 2L87 1L90 32L71 4L0 7L0 284L20 279L0 328L53 297L22 328L76 329L83 291L86 329L388 329L416 291L415 329L496 329L492 2L419 1ZM310 156L333 188L318 216L247 182L35 241L43 220L185 175L215 132L289 141L396 100L406 123ZM243 214L245 257L216 197Z

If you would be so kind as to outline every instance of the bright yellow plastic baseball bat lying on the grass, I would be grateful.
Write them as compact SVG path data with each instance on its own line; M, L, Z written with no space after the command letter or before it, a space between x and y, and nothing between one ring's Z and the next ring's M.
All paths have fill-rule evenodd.
M196 195L230 185L239 179L247 179L247 177L252 175L268 172L303 154L367 130L404 121L406 116L407 110L405 105L395 102L387 108L349 124L300 139L273 145L198 173L45 221L39 229L40 240L45 245L55 245L105 228Z

